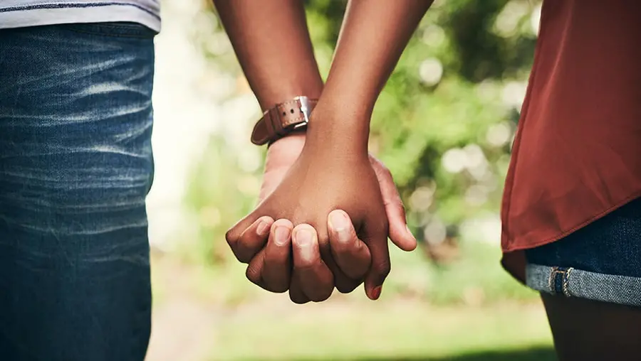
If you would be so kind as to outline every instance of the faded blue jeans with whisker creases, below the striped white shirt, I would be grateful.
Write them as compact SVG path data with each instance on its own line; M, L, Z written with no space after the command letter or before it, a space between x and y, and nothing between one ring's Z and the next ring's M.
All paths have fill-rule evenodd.
M0 31L0 360L145 357L154 36Z

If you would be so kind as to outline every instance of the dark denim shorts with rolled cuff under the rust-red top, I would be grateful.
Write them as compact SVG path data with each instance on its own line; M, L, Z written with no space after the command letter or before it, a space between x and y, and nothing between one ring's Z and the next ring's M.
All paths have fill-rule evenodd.
M640 307L641 198L526 257L537 291Z

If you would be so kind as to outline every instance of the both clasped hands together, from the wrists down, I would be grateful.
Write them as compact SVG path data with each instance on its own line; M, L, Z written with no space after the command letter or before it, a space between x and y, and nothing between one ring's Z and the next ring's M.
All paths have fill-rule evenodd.
M367 153L305 146L297 134L269 148L259 205L226 240L250 281L306 303L362 283L377 299L390 272L388 235L416 247L387 168Z

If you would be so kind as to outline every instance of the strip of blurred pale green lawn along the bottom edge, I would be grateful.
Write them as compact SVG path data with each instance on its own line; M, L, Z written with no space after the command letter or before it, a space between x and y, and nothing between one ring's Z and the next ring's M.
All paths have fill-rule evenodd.
M209 360L556 360L540 306L380 302L239 308ZM503 357L503 358L501 358Z

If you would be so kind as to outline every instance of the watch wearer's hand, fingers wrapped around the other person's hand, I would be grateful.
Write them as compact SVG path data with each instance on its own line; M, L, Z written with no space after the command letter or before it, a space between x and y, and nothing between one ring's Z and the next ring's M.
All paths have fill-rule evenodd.
M342 292L352 291L363 282L366 274L369 280L366 282L366 291L370 298L375 299L379 296L382 280L389 271L387 243L382 241L387 237L383 233L385 230L377 230L380 233L377 235L364 232L359 234L367 236L362 236L367 243L377 239L375 246L382 245L382 264L378 271L374 271L371 267L370 248L358 238L353 219L344 211L345 208L335 207L339 209L325 213L328 217L323 222L324 227L319 227L323 230L322 237L318 236L319 233L311 222L301 222L297 217L293 217L293 222L300 224L297 223L295 228L292 218L284 217L279 212L272 211L271 215L259 216L266 214L260 213L266 206L262 201L267 201L268 196L281 184L296 163L304 144L305 135L296 134L270 146L261 188L261 203L259 208L227 233L231 249L241 262L249 263L246 274L251 281L273 292L289 289L292 300L297 303L322 301L331 294L334 286ZM365 168L363 163L361 166ZM407 230L405 211L390 172L372 156L368 156L367 163L371 170L365 173L371 182L370 172L373 171L377 181L379 195L375 199L380 202L377 207L379 218L380 205L385 210L385 215L380 218L380 226L385 228L386 221L389 221L392 242L407 251L414 249L416 240ZM372 183L370 187L371 185ZM325 208L331 207L325 203ZM278 220L274 222L273 217ZM367 217L360 217L359 230L365 229L366 220ZM249 226L244 227L248 223ZM375 255L376 252L378 249L375 250Z

